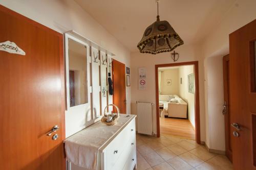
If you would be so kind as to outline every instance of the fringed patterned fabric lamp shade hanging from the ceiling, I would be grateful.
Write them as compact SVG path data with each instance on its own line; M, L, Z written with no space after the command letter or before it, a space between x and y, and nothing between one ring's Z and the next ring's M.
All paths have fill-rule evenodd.
M174 31L166 20L157 21L148 26L137 47L141 53L158 54L173 51L179 45L184 44L180 36Z

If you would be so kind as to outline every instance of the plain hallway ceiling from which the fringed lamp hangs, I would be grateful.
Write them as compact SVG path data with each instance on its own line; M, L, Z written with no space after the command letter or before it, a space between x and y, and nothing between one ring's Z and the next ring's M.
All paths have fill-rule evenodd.
M156 21L155 0L74 0L131 52L147 26ZM167 20L184 44L201 41L215 29L236 0L161 0L160 20Z

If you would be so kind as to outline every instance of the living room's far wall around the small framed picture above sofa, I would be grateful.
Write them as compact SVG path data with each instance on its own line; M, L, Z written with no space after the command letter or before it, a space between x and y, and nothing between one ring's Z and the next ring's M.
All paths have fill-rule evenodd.
M172 80L172 85L167 85ZM161 94L179 94L179 69L167 69L161 72Z

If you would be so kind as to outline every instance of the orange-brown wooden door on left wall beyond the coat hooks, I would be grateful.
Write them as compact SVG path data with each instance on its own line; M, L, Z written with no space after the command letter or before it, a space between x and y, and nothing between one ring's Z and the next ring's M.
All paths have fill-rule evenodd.
M113 59L112 75L114 89L113 104L119 108L120 113L126 114L125 65ZM114 112L117 112L115 107Z

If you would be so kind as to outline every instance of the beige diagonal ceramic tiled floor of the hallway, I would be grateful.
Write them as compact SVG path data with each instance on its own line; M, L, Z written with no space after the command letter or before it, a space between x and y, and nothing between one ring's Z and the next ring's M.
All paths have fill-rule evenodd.
M209 153L195 140L136 135L137 170L233 169L224 155Z

